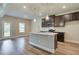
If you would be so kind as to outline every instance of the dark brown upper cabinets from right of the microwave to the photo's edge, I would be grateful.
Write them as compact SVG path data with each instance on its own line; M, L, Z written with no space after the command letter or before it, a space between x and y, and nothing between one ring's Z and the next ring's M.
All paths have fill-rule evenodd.
M79 20L79 12L68 13L60 16L55 16L55 27L64 27L65 22Z

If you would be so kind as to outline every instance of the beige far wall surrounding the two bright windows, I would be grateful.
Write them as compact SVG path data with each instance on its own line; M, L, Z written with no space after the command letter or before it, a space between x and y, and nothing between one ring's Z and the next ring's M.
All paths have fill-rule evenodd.
M12 16L4 16L0 18L0 37L3 37L3 23L9 22L11 24L11 36L24 35L27 36L31 31L31 21L28 19L21 19ZM25 32L19 33L19 23L25 23Z

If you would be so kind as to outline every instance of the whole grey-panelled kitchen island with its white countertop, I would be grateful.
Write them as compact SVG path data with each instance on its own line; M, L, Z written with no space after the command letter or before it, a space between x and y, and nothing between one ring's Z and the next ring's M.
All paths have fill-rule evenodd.
M29 33L29 43L38 48L54 53L57 47L57 33L31 32Z

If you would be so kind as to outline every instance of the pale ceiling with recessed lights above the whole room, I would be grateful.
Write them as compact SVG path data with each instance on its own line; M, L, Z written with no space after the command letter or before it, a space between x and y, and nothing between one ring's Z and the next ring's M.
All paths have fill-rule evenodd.
M34 19L79 10L79 3L10 3L6 7L6 15Z

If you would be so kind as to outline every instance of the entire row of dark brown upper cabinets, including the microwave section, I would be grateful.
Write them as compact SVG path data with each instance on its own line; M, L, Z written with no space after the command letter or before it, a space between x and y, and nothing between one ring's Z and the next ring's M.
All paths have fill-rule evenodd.
M60 16L51 15L49 20L42 19L42 27L64 27L65 22L79 20L79 12L68 13Z

